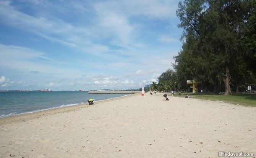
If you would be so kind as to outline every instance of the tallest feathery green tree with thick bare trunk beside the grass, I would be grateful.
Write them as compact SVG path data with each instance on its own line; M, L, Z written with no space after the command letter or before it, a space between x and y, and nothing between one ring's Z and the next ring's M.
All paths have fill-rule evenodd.
M225 94L232 94L230 66L243 55L239 45L251 10L250 1L185 0L183 4L180 2L177 10L181 20L178 27L183 28L181 39L185 41L175 57L178 76L181 69L184 75L214 83L215 87L223 80Z

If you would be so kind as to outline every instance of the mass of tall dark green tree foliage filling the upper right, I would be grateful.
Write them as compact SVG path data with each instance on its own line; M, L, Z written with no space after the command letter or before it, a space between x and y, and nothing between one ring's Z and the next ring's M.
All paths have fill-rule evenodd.
M177 16L181 20L178 27L183 28L183 46L174 57L177 78L201 80L215 87L223 80L226 94L231 93L232 81L239 86L250 77L253 82L255 6L255 0L180 2Z

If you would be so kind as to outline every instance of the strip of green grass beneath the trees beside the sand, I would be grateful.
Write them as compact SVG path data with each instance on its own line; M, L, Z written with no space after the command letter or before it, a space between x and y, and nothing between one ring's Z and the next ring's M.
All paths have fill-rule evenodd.
M188 93L192 98L196 99L207 99L212 101L224 101L237 105L251 106L256 107L256 95L255 94L233 94L233 95L219 95L215 93ZM186 93L181 93L181 96L178 93L175 96L185 97Z

